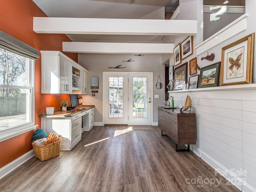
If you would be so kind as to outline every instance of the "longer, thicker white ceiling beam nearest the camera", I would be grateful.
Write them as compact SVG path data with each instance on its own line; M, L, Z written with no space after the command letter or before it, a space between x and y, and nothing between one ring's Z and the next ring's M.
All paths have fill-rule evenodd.
M34 17L36 33L187 35L197 34L197 20Z

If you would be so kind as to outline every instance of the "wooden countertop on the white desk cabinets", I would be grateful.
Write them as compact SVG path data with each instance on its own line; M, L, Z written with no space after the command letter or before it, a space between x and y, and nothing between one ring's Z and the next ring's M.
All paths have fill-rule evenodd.
M46 115L46 112L45 112L45 113L38 114L38 117L47 118L50 116L58 116L58 115L60 118L72 117L72 116L76 116L82 112L85 112L87 110L90 110L91 108L94 108L94 107L95 107L94 105L82 105L82 106L76 107L74 110L69 110L69 111L61 111L59 109L59 110L55 110L53 115ZM78 108L85 108L85 110L77 110Z

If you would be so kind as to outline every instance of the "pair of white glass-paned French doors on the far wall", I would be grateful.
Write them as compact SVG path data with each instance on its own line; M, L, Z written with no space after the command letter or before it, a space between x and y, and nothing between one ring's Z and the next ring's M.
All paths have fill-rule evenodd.
M103 72L104 124L151 125L151 76Z

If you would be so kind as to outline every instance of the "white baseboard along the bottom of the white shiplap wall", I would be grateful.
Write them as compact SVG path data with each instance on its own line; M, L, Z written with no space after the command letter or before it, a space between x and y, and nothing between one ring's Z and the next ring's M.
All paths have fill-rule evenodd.
M201 158L212 168L214 168L216 172L224 176L224 178L226 178L231 184L233 184L236 188L242 191L242 178L239 178L237 175L233 174L230 170L219 164L216 160L214 160L204 152L201 152Z

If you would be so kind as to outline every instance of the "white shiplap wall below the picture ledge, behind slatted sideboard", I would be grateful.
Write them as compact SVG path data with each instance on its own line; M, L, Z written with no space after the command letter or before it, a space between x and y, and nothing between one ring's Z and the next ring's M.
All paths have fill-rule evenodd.
M181 90L169 96L179 108L187 95L192 99L197 144L191 149L237 188L252 192L256 191L256 85L248 90L239 87Z

